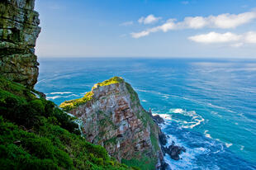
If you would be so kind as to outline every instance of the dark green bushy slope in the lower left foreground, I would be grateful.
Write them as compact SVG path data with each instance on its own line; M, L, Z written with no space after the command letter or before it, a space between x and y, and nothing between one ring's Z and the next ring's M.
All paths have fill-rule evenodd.
M35 91L36 92L36 91ZM0 76L2 169L130 169L80 135L53 102Z

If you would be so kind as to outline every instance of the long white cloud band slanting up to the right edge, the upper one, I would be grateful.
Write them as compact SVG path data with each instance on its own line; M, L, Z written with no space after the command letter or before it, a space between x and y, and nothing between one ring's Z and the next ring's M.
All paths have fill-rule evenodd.
M141 19L141 18L140 18ZM133 36L134 38L140 38L146 35L149 35L153 32L158 31L172 31L172 30L182 30L182 29L202 29L202 28L220 28L220 29L230 29L237 26L242 26L250 21L256 19L256 12L244 12L240 14L220 14L218 16L209 16L209 17L185 17L183 21L177 21L176 19L169 19L161 26L155 26L149 28L145 31L140 31L137 33L131 33L131 35L140 35ZM144 19L141 19L141 22ZM139 20L140 22L140 20Z

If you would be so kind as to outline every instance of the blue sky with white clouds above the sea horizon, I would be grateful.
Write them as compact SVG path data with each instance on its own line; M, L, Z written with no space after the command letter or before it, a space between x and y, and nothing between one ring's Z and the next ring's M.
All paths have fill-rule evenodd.
M256 0L36 0L46 57L256 59Z

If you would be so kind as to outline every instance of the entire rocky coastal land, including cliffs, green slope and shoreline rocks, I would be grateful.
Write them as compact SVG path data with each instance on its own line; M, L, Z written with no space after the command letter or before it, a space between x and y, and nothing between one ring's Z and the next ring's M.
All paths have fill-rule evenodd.
M62 110L33 89L40 33L34 5L0 2L0 167L168 169L164 155L178 160L185 150L167 146L159 127L164 120L145 111L123 78L97 83L84 97L62 103Z

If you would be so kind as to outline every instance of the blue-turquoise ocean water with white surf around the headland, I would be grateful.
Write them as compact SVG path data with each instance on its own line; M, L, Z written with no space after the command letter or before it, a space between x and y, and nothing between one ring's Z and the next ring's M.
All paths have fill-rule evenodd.
M256 169L256 60L40 59L36 89L57 104L121 76L187 149L173 169Z

